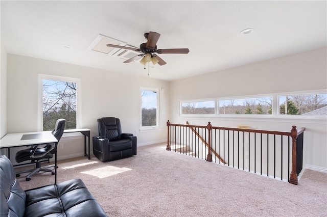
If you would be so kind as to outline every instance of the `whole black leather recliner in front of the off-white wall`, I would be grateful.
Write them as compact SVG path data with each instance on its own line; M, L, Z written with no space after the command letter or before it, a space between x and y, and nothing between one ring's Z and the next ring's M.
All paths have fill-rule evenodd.
M92 138L93 153L101 161L117 160L136 155L136 137L122 133L118 118L98 119L99 135Z

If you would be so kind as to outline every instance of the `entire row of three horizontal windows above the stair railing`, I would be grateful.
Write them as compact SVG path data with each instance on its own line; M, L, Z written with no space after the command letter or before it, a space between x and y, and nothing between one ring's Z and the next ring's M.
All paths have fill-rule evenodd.
M277 117L301 115L301 119L325 119L327 90L198 99L180 102L180 115L192 117ZM287 103L286 103L287 102ZM295 116L287 116L292 118ZM298 116L297 116L298 118Z

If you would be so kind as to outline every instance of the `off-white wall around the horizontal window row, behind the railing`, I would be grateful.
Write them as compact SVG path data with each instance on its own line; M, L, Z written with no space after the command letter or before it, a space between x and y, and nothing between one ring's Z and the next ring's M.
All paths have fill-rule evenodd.
M170 84L170 122L290 131L292 125L306 127L305 167L327 172L327 124L324 120L285 118L186 118L179 116L181 100L273 94L327 89L326 48L288 57L176 80Z

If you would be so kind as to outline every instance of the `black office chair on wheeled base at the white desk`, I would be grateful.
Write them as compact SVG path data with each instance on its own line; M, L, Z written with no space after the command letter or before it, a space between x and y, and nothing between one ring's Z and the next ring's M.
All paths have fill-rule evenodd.
M65 128L65 119L58 119L56 122L55 129L52 131L52 134L55 136L55 138L59 140L62 136L63 130ZM34 174L43 171L43 172L51 172L52 175L55 175L55 172L51 169L51 167L55 167L55 165L49 165L45 167L41 167L41 159L50 159L53 158L53 155L56 153L57 145L58 143L50 143L50 144L38 144L33 145L29 149L20 150L16 153L16 161L22 162L26 160L31 160L32 163L36 161L35 168L32 170L26 170L16 173L16 177L19 177L22 173L30 173L26 176L26 181L31 180L31 176ZM45 146L44 146L45 145ZM40 147L43 146L43 147Z

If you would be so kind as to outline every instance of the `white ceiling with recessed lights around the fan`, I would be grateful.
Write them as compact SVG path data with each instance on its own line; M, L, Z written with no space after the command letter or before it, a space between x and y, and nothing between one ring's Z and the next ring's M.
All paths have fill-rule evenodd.
M190 49L161 54L167 64L150 68L151 78L175 80L325 47L326 7L326 1L1 1L1 41L8 53L148 77L139 63L87 48L99 34L138 47L144 33L157 32L158 49ZM241 35L247 28L254 32Z

